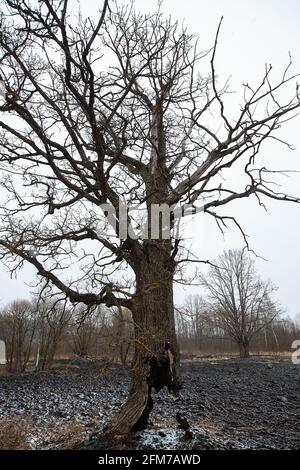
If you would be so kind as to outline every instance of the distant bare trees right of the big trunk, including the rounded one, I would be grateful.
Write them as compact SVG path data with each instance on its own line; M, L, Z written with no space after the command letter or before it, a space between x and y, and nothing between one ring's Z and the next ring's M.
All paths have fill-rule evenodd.
M288 351L300 338L299 321L286 316L272 295L276 287L264 281L245 250L224 252L200 283L207 292L189 297L177 313L182 348L195 351Z

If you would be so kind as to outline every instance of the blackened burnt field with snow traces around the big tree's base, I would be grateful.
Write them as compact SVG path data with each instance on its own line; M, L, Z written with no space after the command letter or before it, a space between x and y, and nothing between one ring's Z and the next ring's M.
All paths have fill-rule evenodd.
M300 365L289 360L183 361L181 400L154 393L150 425L134 449L299 449ZM29 423L34 449L95 448L97 432L124 401L129 371L102 363L0 376L0 427ZM192 437L177 428L176 413ZM2 447L3 448L3 447Z

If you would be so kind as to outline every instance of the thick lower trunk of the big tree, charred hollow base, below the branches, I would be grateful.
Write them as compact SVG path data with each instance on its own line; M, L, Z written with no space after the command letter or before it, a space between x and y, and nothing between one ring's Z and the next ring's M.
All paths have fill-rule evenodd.
M132 311L135 352L127 401L108 427L110 436L127 435L147 423L153 405L152 387L180 387L179 354L175 333L173 274L170 241L152 241L136 269L137 296ZM168 363L170 374L165 370Z

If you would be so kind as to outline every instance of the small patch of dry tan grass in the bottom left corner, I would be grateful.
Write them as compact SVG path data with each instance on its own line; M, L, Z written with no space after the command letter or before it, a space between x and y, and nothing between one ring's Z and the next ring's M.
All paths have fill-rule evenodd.
M28 450L31 423L27 419L2 418L0 420L0 450Z

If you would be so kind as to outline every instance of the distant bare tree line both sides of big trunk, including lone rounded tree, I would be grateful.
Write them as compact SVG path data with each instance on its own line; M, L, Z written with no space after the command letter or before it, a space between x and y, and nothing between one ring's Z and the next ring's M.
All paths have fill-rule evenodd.
M291 320L272 299L276 290L259 277L245 250L224 252L200 276L206 297L187 297L176 309L181 351L188 354L284 352L300 338L300 315ZM40 371L54 358L94 356L125 364L134 346L131 312L124 307L65 302L40 295L16 300L0 311L0 339L7 368Z

